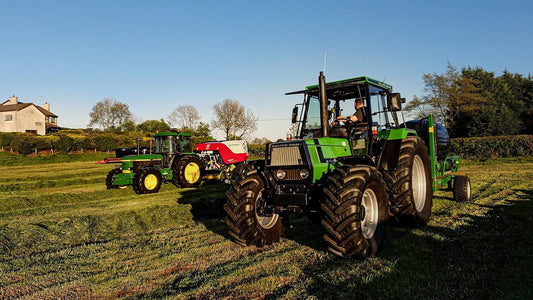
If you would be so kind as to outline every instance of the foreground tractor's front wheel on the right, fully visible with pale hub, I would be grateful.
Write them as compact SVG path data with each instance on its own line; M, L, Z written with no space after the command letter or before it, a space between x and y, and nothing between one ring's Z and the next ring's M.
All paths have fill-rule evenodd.
M373 256L388 217L381 174L370 166L337 167L324 186L322 226L329 250L342 257Z

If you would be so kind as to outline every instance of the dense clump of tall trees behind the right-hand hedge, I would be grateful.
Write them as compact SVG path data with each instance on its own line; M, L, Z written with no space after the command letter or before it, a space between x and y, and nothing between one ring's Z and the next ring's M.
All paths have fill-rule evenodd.
M424 74L422 97L406 106L417 117L433 114L452 137L533 134L533 78L480 67Z

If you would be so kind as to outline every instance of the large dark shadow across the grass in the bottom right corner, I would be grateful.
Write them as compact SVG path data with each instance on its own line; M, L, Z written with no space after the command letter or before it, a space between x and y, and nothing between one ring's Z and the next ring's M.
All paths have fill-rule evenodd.
M307 292L319 299L532 299L533 191L515 192L517 201L455 230L389 227L377 258L309 267Z

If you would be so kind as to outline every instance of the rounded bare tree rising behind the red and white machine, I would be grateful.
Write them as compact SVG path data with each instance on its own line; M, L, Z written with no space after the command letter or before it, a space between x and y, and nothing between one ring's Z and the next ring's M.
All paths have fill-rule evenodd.
M243 138L257 129L258 118L237 100L225 99L213 105L213 127L222 130L226 139Z

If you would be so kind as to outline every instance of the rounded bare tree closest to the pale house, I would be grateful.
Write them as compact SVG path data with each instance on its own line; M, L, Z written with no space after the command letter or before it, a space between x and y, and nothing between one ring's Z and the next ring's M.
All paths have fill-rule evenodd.
M127 104L116 99L104 98L93 106L89 117L91 118L89 127L98 125L102 130L110 130L118 128L130 119L131 112Z

